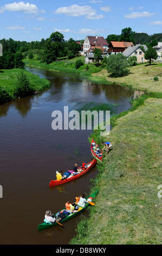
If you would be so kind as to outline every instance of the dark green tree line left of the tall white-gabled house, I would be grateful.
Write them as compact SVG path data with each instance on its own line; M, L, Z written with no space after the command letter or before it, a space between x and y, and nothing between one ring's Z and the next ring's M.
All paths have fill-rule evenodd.
M49 38L41 41L14 41L13 39L2 39L0 44L3 46L3 56L0 58L0 69L24 68L22 59L27 57L34 58L33 53L37 54L37 60L50 64L57 58L67 56L74 58L81 50L81 44L74 39L64 40L63 34L55 32Z

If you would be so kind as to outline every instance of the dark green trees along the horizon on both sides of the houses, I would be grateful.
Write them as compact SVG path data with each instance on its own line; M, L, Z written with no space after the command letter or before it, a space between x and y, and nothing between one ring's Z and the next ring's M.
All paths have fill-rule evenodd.
M135 33L132 28L124 28L120 35L107 35L107 42L110 41L131 41L133 44L146 44L147 47L155 46L158 41L162 41L162 33L148 35L146 33ZM83 40L82 40L83 42ZM68 57L74 58L81 50L81 44L74 39L64 40L60 32L51 33L49 38L41 41L15 41L13 39L2 39L0 43L3 46L3 57L0 58L0 69L24 68L23 58L34 58L42 63L50 64L57 58ZM98 52L95 53L96 60L99 61Z

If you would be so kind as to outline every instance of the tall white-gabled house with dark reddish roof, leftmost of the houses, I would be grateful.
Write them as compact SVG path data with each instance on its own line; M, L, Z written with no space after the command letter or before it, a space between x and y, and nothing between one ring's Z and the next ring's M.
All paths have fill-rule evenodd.
M103 46L108 48L108 42L103 38L103 36L87 35L85 41L83 42L83 53L81 54L85 54L92 46Z

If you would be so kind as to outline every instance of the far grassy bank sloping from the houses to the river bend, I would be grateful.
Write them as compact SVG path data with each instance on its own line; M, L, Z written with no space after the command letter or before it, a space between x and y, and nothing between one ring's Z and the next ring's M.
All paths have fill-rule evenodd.
M83 64L79 69L75 68L75 62L77 59L81 59L85 62L85 57L76 57L74 59L66 59L51 64L41 63L40 60L24 59L26 65L34 66L38 69L47 69L51 71L68 72L71 74L77 74L81 77L86 77L88 80L94 83L117 83L121 86L132 88L135 90L143 90L145 92L161 92L162 83L162 64L141 64L132 66L127 76L113 78L109 77L106 67L96 66L95 63ZM154 77L157 76L159 81L153 82Z

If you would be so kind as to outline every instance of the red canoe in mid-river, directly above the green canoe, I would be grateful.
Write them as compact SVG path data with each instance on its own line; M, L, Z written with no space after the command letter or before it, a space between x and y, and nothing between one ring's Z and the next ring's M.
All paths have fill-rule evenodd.
M84 175L85 173L89 172L90 169L92 169L95 165L96 165L97 161L94 159L92 162L89 162L87 164L88 168L81 168L83 171L79 174L76 174L70 178L67 178L67 179L64 179L64 180L51 180L50 183L49 183L49 187L53 187L53 186L56 186L56 185L61 185L63 183L66 183L68 181L72 181L72 180L75 180L79 177L81 177L82 175Z

